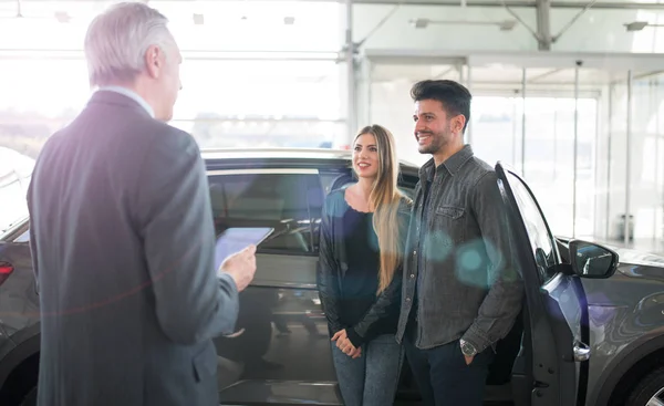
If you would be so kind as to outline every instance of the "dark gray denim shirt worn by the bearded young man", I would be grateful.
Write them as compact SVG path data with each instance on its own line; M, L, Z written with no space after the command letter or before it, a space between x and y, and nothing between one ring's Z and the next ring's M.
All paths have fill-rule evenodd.
M415 345L423 350L463 337L481 352L511 329L523 288L497 180L469 145L438 167L432 159L421 168L404 259L400 343L414 319Z

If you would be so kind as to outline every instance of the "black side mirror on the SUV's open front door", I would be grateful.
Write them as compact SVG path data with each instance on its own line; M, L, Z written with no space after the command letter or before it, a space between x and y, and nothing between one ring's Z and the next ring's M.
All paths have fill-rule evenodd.
M570 241L569 248L574 274L581 278L605 279L615 273L619 257L614 251L581 240Z

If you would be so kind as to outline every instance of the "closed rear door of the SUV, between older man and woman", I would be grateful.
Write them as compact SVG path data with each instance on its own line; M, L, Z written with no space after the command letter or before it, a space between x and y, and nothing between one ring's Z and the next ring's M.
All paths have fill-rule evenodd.
M217 235L272 227L240 294L234 336L215 341L221 404L341 404L315 285L324 192L318 169L208 173Z

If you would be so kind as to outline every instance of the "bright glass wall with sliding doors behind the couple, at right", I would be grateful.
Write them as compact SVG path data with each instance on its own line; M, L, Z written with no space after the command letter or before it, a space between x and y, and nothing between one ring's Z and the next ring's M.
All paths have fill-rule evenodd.
M632 71L629 85L627 65L636 60L546 62L459 69L375 58L367 121L405 134L401 156L423 163L428 156L417 154L412 136L409 89L423 79L460 81L474 95L466 142L490 165L522 174L556 235L664 251L664 74Z

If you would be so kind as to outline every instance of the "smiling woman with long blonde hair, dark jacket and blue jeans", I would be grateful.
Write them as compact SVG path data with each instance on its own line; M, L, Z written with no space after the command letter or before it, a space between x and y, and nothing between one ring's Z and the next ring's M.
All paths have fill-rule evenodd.
M404 357L394 334L411 200L386 128L362 128L352 160L357 181L325 198L317 280L344 404L385 406Z

